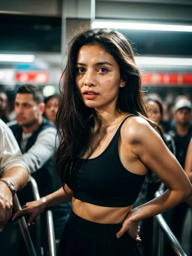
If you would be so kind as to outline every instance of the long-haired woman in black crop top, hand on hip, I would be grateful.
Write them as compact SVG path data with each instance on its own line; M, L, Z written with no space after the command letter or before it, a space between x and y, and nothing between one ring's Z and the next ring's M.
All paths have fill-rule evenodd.
M47 207L72 199L58 256L140 255L139 220L179 204L192 186L147 118L128 40L107 29L77 34L62 84L56 164L64 189L45 196ZM132 209L148 168L169 189Z

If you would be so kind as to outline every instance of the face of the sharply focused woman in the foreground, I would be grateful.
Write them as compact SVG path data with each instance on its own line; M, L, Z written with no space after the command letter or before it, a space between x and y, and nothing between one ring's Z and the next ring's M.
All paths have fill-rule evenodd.
M85 45L77 54L76 85L87 107L104 110L116 105L119 87L124 87L119 65L99 45Z

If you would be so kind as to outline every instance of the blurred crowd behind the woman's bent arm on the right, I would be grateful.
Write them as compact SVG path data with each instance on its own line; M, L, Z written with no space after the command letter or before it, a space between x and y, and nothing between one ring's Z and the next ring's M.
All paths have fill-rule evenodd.
M145 105L147 107L148 116L153 119L154 122L159 124L156 129L157 132L161 135L169 150L174 154L182 168L186 171L186 161L189 162L189 159L187 158L191 158L192 153L190 150L190 144L192 143L192 103L190 98L185 95L179 95L175 98L172 104L168 104L163 101L158 94L148 94L146 96ZM186 157L187 152L188 157ZM191 162L186 172L192 172ZM190 181L192 180L190 179ZM155 192L161 185L162 182L154 173L151 173L151 177L148 175L135 206L152 200ZM164 190L165 189L166 188L164 187ZM180 243L188 209L189 204L184 202L164 215L166 222L169 224L169 227ZM143 239L143 243L141 244L141 250L143 251L142 255L149 256L152 254L152 218L142 221L141 237ZM190 250L192 249L190 248ZM166 246L164 255L174 255L173 250L171 250L168 245ZM190 252L189 255L192 255L192 252Z

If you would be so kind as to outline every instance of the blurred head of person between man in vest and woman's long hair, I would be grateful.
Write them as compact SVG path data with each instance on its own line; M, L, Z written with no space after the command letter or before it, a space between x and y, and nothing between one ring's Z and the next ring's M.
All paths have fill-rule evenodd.
M45 117L55 124L56 114L59 107L59 96L58 94L53 94L45 99Z

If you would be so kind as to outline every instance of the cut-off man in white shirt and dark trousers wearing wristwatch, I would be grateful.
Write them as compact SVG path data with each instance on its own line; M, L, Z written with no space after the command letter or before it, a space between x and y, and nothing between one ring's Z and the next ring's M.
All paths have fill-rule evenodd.
M0 255L13 255L18 225L7 223L12 215L13 196L29 180L21 150L8 126L0 119ZM11 253L12 252L12 253Z

